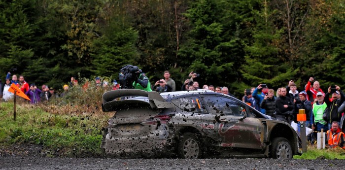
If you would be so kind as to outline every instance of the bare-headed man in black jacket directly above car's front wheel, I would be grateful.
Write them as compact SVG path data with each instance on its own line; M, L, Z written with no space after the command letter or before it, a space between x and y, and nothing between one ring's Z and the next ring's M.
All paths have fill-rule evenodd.
M280 96L276 98L276 119L284 122L290 122L294 104L289 97L286 97L286 88L280 88Z

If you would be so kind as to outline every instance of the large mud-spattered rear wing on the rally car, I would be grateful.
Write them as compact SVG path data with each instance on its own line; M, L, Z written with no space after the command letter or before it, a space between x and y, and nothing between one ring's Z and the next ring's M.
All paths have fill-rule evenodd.
M116 100L117 98L122 97L147 97L149 103L139 100ZM117 111L123 106L127 105L137 105L137 106L149 106L151 108L173 108L175 105L171 102L167 102L158 92L146 92L139 89L121 89L121 90L112 90L105 92L102 96L102 110L106 111Z

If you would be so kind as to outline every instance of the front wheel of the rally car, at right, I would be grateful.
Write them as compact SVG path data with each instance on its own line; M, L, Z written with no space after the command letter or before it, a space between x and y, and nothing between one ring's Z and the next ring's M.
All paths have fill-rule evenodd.
M272 157L275 159L292 159L290 142L284 137L276 137L272 141Z

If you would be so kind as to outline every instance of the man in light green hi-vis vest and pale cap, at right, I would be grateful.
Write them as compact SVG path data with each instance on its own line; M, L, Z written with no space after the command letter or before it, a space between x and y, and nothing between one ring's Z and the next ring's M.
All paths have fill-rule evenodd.
M312 126L312 129L314 130L316 128L317 132L321 132L321 129L323 129L324 131L327 131L328 130L327 122L323 120L322 118L323 112L327 108L327 104L326 102L323 101L324 98L321 92L317 92L316 99L317 99L317 102L314 102L312 105L312 113L314 115L313 125L315 125L315 126Z

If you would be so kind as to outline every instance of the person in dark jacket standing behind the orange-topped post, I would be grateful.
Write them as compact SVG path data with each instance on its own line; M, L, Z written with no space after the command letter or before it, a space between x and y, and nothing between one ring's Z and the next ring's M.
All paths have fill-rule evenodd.
M307 92L302 91L299 93L300 100L294 99L294 112L298 112L299 109L305 109L307 120L306 120L306 127L311 128L311 124L313 121L313 114L312 114L312 105L311 102L307 100ZM296 115L297 116L297 115ZM311 135L308 135L308 141L312 141L313 138Z

